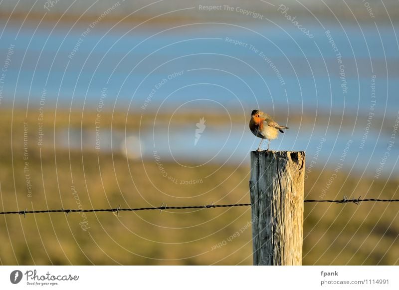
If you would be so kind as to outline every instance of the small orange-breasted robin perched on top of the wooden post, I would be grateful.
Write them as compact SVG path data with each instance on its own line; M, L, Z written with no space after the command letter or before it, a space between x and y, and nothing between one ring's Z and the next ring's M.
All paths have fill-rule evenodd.
M269 114L263 113L260 110L253 110L251 120L249 121L249 129L251 129L253 135L262 138L257 151L259 151L263 139L269 140L269 144L267 145L267 151L269 151L270 140L276 139L278 131L284 133L282 129L288 129L288 127L277 124Z

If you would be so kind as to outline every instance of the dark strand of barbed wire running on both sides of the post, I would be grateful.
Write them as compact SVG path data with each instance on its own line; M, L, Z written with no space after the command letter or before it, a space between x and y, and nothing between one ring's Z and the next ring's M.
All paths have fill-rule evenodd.
M327 202L327 203L336 203L336 204L344 204L344 203L354 203L360 205L361 202L399 202L399 199L361 199L361 197L357 199L348 199L346 196L342 200L304 200L304 203L312 203L312 202ZM28 211L27 208L24 211L9 211L9 212L0 212L0 215L11 215L11 214L18 214L23 215L24 217L26 214L42 214L42 213L65 213L68 215L69 213L93 213L93 212L112 212L119 215L119 212L135 212L135 211L149 211L149 210L159 210L162 213L163 210L185 210L185 209L210 209L210 208L229 208L229 207L245 207L250 206L251 204L229 204L229 205L215 205L211 203L210 205L204 206L181 206L181 207L168 207L167 205L164 206L162 204L160 207L148 207L148 208L128 208L122 209L121 206L114 209L90 209L90 210L79 210L79 209L59 209L59 210L40 210L40 211Z

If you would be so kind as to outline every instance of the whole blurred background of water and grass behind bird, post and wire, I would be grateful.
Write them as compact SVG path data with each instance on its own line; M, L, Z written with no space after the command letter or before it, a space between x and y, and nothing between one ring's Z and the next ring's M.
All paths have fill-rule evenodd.
M398 5L2 0L0 211L249 203L257 108L306 151L305 199L398 199ZM398 209L305 204L303 264L399 264ZM3 215L0 263L251 265L250 220Z

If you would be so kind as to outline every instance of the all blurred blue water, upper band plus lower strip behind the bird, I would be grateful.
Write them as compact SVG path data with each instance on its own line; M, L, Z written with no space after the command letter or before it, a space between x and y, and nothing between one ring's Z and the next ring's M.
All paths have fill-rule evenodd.
M131 30L122 26L109 30L96 26L81 36L88 26L70 29L61 25L53 29L35 24L20 29L10 24L4 27L4 22L0 22L0 27L4 27L0 35L0 68L10 44L14 45L0 106L15 103L37 108L45 89L46 108L57 103L61 109L72 106L91 111L96 110L101 91L105 90L104 110L129 110L138 118L157 110L196 109L206 116L210 109L225 114L247 113L260 107L270 113L300 115L317 110L318 114L338 115L339 120L342 115L365 116L367 120L375 75L375 116L363 149L359 145L366 127L364 120L356 130L352 130L353 124L340 128L337 119L331 120L327 131L327 124L317 120L305 127L288 124L289 133L272 142L273 149L307 150L311 158L320 140L326 138L318 162L328 162L334 168L350 139L353 143L345 158L347 169L354 165L356 170L366 168L374 173L391 141L399 110L399 46L393 27L369 24L361 29L356 24L345 24L343 29L337 24L324 24L324 28L307 24L315 35L310 39L288 24L281 28L264 23L246 24L246 28L202 24L166 31L159 27ZM326 30L337 51L329 43ZM226 41L226 37L241 41L241 45ZM78 49L72 55L77 43ZM343 78L340 72L344 73ZM380 133L377 119L384 119L388 131ZM197 122L188 120L187 125L192 127L188 131L172 128L170 135L165 131L156 134L157 144L170 140L172 149L163 152L165 158L202 162L216 156L212 160L241 162L248 158L249 150L257 148L258 140L246 125L233 128L228 136L224 136L225 132L231 128L208 126L196 147L183 146L188 136L194 138ZM284 120L279 122L284 124ZM350 128L345 129L347 126ZM145 143L141 144L142 153L151 158L152 134L140 136L140 140ZM398 171L398 143L390 151L385 173ZM198 153L194 157L192 150Z

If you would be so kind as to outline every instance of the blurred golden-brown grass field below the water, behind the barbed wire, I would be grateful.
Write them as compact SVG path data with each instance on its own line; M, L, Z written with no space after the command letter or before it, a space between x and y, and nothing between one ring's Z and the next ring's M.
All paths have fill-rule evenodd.
M169 175L179 181L203 180L176 184L163 177L152 159L37 146L37 112L31 111L27 116L22 110L0 114L0 211L249 203L248 164L219 169L219 164L208 163L188 171L164 161ZM150 124L153 116L145 118ZM92 113L82 117L81 112L48 111L44 138L56 139L54 132L62 128L94 129L94 119ZM134 115L127 120L129 130L138 129ZM126 114L103 114L102 126L111 124L125 129ZM319 199L331 174L330 169L314 168L305 181L305 198ZM344 194L392 198L399 180L389 180L373 182L372 177L341 171L325 198L340 199ZM309 203L304 218L304 265L399 264L396 204ZM4 215L0 216L0 264L251 265L251 230L245 227L250 220L249 207L121 212L119 216L101 212Z

